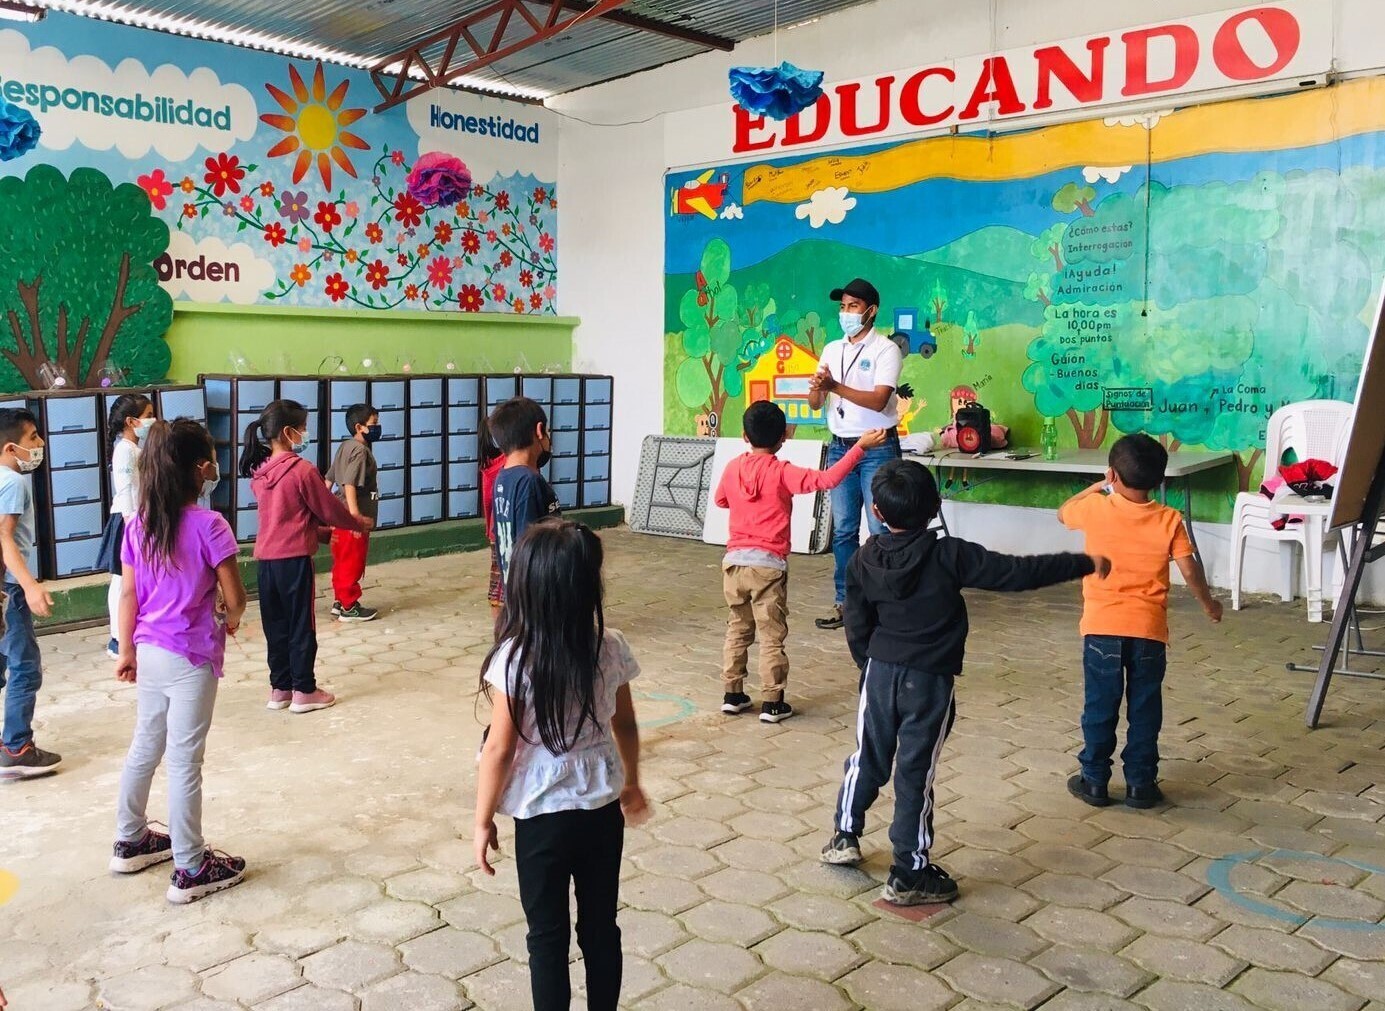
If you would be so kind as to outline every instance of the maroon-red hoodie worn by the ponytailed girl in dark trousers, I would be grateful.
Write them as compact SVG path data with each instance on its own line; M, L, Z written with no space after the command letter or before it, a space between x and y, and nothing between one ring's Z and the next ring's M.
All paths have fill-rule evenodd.
M317 554L320 526L361 529L346 504L327 490L317 468L296 453L280 453L260 464L251 492L259 503L255 557L260 561Z

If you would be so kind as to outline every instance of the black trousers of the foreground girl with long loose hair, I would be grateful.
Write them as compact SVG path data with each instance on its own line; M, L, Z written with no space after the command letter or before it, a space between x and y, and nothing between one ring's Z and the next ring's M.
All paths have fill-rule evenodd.
M535 1011L566 1011L568 889L578 895L578 947L587 971L587 1007L615 1011L620 1000L620 886L625 816L620 805L515 818L519 903L529 922L529 987Z

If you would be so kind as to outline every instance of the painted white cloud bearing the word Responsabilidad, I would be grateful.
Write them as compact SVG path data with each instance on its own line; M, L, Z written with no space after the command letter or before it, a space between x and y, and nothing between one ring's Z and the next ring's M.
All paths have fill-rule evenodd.
M35 115L39 143L53 151L82 144L143 158L152 150L180 162L198 148L226 151L259 126L251 93L206 66L184 73L163 64L151 73L138 60L122 60L112 71L53 46L30 50L14 30L0 30L0 97Z

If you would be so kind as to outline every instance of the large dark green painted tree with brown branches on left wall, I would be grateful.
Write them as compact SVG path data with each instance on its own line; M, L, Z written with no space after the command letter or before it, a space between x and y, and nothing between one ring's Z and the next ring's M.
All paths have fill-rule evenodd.
M173 301L152 265L168 244L148 195L96 169L0 179L0 389L42 386L44 363L78 386L98 385L107 360L161 381Z

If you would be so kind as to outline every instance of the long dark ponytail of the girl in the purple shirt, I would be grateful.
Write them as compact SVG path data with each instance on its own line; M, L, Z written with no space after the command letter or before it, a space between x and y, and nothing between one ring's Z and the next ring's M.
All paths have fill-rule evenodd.
M198 467L216 458L212 435L198 422L155 421L140 456L140 524L144 561L150 568L173 564L183 510L202 490Z

